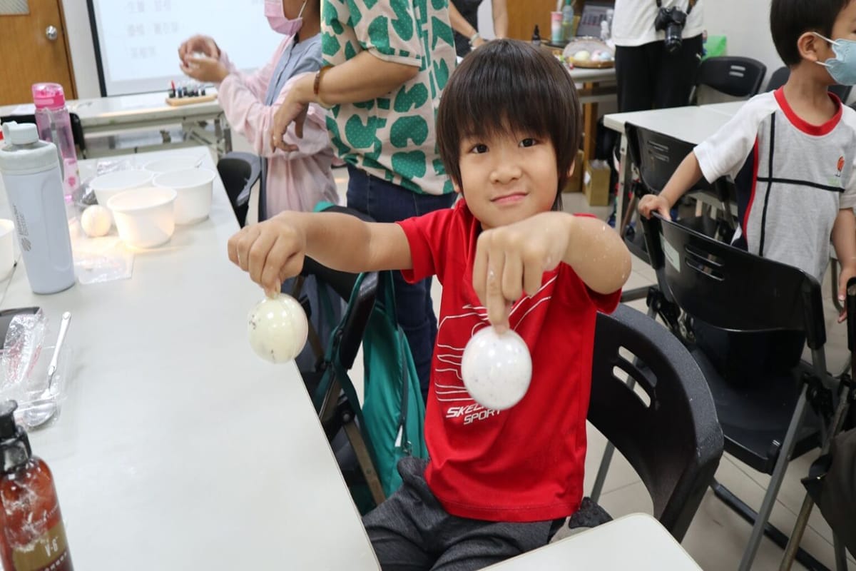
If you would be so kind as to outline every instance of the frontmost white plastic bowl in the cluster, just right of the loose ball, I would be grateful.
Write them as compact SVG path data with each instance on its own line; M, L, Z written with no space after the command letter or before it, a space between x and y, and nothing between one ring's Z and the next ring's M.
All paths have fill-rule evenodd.
M107 205L128 246L157 247L175 231L175 190L144 187L116 194Z

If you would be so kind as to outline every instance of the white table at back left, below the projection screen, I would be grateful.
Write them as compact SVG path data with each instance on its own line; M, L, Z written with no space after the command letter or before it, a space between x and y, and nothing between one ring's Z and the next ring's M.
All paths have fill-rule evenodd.
M213 87L207 93L216 93ZM169 146L208 145L219 154L232 150L232 135L229 123L217 99L204 103L172 106L166 103L167 92L139 93L135 95L119 95L105 98L72 99L68 101L68 110L80 117L80 126L91 146L92 139L106 134L122 134L129 131L159 131L161 139L146 146L130 148L104 149L91 146L87 151L88 157L105 154L123 154L152 150L153 148ZM0 116L31 114L32 105L6 105L0 107ZM23 113L27 110L28 113ZM211 122L213 133L201 126ZM173 141L169 139L170 125L181 125L187 140ZM118 141L122 144L122 140ZM133 142L132 142L133 145Z

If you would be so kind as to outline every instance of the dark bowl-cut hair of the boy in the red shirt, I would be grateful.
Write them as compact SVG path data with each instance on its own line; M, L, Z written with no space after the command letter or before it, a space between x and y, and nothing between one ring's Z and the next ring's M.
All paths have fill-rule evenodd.
M496 39L467 55L443 88L437 111L440 157L460 186L461 140L521 131L549 137L559 175L556 210L580 148L580 115L574 80L556 57L518 40Z

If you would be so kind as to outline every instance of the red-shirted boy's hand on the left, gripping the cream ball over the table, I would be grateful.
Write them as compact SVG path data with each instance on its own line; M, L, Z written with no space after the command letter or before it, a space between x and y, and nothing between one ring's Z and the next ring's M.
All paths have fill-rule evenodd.
M303 269L306 234L286 211L241 229L229 238L229 260L247 271L253 282L276 294L288 277Z

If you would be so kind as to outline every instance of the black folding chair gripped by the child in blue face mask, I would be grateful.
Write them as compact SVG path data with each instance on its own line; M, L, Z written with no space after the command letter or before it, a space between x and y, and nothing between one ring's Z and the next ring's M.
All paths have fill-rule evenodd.
M808 407L833 400L837 379L826 371L826 330L820 284L789 265L760 258L710 239L681 224L654 216L644 220L645 243L658 283L670 300L695 319L728 331L800 331L811 348L811 365L786 374L762 375L735 385L716 371L707 356L692 348L710 391L725 435L725 451L770 474L758 513L715 482L716 496L753 524L740 569L748 569L766 532L782 547L787 537L770 526L770 512L788 461L817 448L821 420ZM836 546L837 547L837 546ZM806 567L823 568L805 551Z

